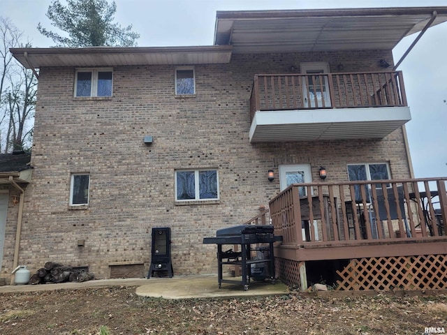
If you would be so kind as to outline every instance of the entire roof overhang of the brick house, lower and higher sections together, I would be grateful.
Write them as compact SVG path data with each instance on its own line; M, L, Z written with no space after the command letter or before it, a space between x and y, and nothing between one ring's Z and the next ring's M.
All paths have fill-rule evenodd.
M26 68L228 63L263 52L392 50L405 36L447 21L447 7L218 11L203 47L13 48Z

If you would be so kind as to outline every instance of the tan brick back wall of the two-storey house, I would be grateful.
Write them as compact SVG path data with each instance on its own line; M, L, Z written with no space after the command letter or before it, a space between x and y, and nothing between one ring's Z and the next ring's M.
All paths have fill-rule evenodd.
M346 163L388 161L393 178L409 177L401 130L383 140L249 143L255 73L289 73L301 61L381 70L382 58L391 52L235 54L230 64L195 66L193 98L175 98L175 66L116 67L113 98L96 100L73 98L73 68L41 68L20 263L87 265L97 278L113 262L148 269L151 229L168 226L175 274L215 273L216 246L203 237L258 214L279 193L279 179L267 179L279 164L310 164L315 180L324 165L337 181L347 179ZM219 202L175 204L178 168L217 168ZM73 172L90 173L87 209L68 207Z

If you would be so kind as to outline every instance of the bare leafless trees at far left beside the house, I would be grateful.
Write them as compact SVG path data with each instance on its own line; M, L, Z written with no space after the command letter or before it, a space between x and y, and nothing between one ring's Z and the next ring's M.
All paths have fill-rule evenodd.
M13 59L10 47L22 45L22 31L0 17L0 152L31 147L37 80Z

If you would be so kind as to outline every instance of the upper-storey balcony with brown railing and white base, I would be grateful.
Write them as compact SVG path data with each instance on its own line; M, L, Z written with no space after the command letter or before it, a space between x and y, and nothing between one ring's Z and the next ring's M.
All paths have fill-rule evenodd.
M401 71L255 75L250 142L383 138L411 119Z

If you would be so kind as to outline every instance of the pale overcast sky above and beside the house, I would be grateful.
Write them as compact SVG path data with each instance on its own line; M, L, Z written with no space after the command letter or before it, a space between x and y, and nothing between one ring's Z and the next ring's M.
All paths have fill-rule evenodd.
M64 3L64 0L61 0ZM0 15L34 47L50 47L37 25L56 30L45 13L50 0L0 0ZM447 6L447 0L115 0L115 22L133 25L138 46L212 45L217 10L278 10ZM393 50L395 63L418 36ZM447 177L447 22L431 27L397 68L402 70L411 121L406 124L416 178Z

